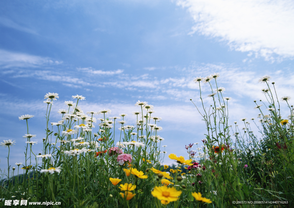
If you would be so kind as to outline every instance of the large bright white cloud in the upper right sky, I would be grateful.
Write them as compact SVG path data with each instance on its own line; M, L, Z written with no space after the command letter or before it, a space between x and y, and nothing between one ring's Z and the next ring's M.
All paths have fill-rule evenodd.
M289 0L178 0L196 25L193 32L218 37L237 51L266 60L294 57L294 2ZM276 54L276 55L275 55Z

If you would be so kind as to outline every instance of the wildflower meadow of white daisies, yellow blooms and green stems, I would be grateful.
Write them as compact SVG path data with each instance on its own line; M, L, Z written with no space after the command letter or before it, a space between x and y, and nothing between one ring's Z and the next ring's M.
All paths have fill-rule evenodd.
M271 77L264 76L259 82L266 86L265 97L254 100L258 118L229 125L231 98L223 97L220 74L194 82L200 101L208 97L211 105L195 105L207 131L200 143L182 146L185 157L166 154L168 141L159 135L164 118L145 101L135 103L133 115L113 116L110 109L83 112L79 104L85 97L76 95L64 102L64 109L52 112L62 98L47 93L42 142L36 144L30 125L34 115L26 112L19 117L27 127L26 141L1 142L8 165L1 179L1 207L294 207L291 98L277 95ZM211 94L201 93L203 85ZM280 109L288 115L281 116ZM52 121L52 114L60 120ZM128 125L129 116L136 123ZM253 133L252 126L259 132ZM24 143L25 154L11 164L16 142ZM33 152L33 145L42 145L43 152ZM165 157L174 165L166 165Z

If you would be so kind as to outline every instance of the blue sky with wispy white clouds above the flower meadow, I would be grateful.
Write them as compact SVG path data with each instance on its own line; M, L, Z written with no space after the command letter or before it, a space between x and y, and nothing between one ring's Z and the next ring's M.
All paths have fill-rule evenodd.
M24 162L19 116L35 115L29 132L41 143L48 92L59 93L51 122L76 94L86 97L84 112L124 112L129 125L136 101L147 101L163 118L162 145L183 156L205 133L189 100L200 104L194 77L220 73L231 123L258 114L261 76L272 77L278 97L294 96L293 1L1 1L0 10L0 139L17 142L10 164ZM2 170L7 154L2 147Z

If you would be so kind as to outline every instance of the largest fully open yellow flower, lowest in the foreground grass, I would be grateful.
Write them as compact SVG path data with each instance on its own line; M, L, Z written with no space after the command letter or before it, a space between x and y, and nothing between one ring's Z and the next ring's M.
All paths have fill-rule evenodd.
M169 202L177 201L182 192L177 191L175 187L168 188L166 186L156 186L153 191L151 191L151 194L153 197L161 200L162 204L168 204Z

